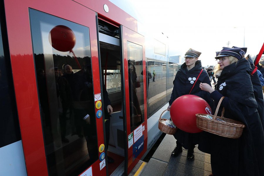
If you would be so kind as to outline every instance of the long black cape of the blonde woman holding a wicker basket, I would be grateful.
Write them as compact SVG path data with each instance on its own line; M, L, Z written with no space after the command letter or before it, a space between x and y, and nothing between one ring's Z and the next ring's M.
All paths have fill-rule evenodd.
M211 93L217 105L225 96L218 111L225 107L224 117L245 124L239 139L231 139L205 133L207 150L211 154L211 168L217 176L263 176L264 175L264 134L257 111L250 79L251 67L243 58L237 63L225 66L218 77L216 90ZM200 141L201 142L201 141ZM203 141L205 142L205 141ZM198 148L203 151L205 143Z

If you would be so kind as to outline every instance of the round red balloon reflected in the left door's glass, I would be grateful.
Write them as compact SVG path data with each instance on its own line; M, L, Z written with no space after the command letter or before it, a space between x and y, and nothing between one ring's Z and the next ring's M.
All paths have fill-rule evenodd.
M58 51L72 52L72 48L76 44L76 37L73 31L67 26L57 25L50 30L49 41L51 46Z

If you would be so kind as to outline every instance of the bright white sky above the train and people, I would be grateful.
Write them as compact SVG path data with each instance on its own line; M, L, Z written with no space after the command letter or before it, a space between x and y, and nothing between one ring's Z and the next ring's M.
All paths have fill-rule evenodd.
M112 0L111 0L112 1ZM114 1L114 0L113 0ZM202 52L203 66L215 65L222 47L245 47L251 57L264 42L264 1L128 0L136 19L169 37L169 55ZM244 32L245 31L245 32Z

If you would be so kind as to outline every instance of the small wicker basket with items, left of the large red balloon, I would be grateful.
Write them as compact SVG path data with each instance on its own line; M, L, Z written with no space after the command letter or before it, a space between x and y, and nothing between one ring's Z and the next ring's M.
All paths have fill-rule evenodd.
M173 124L171 120L161 118L161 116L163 115L165 111L167 110L164 110L160 115L158 127L160 131L162 131L163 133L173 135L177 131L178 128Z

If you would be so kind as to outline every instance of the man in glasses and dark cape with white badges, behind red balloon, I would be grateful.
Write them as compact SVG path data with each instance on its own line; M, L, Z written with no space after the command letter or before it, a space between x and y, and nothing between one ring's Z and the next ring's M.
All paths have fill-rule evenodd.
M187 94L197 95L206 100L209 105L211 105L209 93L199 88L199 84L201 82L206 82L211 85L207 72L202 69L201 61L198 60L200 54L201 52L191 48L186 52L185 63L182 64L173 81L174 86L170 97L169 106L167 108L168 111L170 111L171 104L176 98ZM201 75L192 89L192 86L199 73L201 73ZM191 89L192 91L190 92ZM177 139L177 142L175 149L172 151L172 155L177 156L179 153L181 153L183 146L185 149L188 149L187 158L189 160L194 160L194 147L198 143L197 140L199 139L199 134L187 133L178 129L174 134L174 137Z

